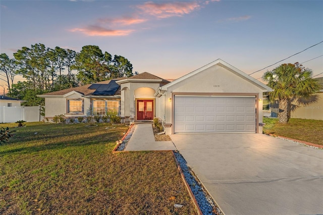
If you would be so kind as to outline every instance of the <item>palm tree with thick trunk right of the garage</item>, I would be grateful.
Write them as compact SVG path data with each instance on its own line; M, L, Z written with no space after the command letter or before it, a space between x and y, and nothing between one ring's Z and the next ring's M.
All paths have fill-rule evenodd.
M312 79L312 70L305 69L299 63L282 64L272 71L265 72L262 80L274 89L273 92L267 93L268 100L279 100L279 123L289 121L290 112L297 108L297 105L292 106L295 99L297 103L312 103L317 100L317 80Z

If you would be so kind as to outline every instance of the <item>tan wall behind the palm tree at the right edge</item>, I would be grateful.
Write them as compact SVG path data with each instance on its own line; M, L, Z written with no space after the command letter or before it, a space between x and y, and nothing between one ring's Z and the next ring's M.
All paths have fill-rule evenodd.
M316 103L299 105L299 107L291 113L291 118L323 120L323 92L318 93L318 100Z

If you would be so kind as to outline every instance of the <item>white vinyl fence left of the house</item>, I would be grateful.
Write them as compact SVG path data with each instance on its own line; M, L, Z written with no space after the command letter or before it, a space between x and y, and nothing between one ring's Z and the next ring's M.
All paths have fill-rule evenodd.
M39 122L43 120L40 115L41 106L0 106L0 123L15 123L20 120L26 122Z

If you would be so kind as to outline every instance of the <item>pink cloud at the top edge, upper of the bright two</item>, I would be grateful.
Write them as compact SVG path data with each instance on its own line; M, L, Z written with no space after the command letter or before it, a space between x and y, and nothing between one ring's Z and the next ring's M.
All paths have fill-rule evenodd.
M201 6L197 2L167 2L154 3L146 2L137 6L145 14L155 16L157 18L168 18L173 16L183 16L194 10L198 10Z

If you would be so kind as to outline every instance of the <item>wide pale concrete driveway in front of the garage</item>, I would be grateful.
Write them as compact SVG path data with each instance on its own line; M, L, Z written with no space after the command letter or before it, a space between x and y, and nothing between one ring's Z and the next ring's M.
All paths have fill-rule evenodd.
M225 214L323 214L323 150L263 134L174 134Z

